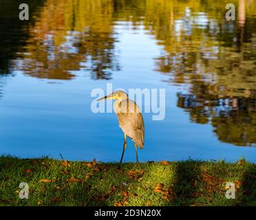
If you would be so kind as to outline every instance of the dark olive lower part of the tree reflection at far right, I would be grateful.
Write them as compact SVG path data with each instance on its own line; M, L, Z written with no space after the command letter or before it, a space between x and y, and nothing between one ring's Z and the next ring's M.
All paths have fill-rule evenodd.
M178 94L178 107L189 112L192 122L206 124L211 121L213 131L222 142L255 146L255 99Z

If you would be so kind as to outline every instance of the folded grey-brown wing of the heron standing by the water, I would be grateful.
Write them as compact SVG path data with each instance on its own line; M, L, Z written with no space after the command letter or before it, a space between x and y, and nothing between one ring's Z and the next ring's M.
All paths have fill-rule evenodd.
M117 113L122 131L140 147L144 146L145 126L140 108L133 100L122 100Z

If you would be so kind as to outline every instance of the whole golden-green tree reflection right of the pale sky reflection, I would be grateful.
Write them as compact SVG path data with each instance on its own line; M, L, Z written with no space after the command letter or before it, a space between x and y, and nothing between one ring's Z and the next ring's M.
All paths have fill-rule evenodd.
M178 107L192 122L211 123L222 142L255 146L255 1L235 1L234 22L224 19L225 1L175 2L147 1L146 27L163 46L156 71L186 85Z

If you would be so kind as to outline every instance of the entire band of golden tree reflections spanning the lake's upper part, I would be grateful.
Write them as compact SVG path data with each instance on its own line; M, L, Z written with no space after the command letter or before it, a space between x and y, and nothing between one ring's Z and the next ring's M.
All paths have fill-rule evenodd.
M8 17L18 8L12 1L0 13L6 19L0 23L0 74L21 70L33 78L74 80L89 73L92 80L111 80L122 73L125 55L116 47L117 29L131 24L134 34L142 29L158 44L154 74L162 74L162 85L182 88L177 106L191 122L211 124L221 142L255 146L256 1L233 1L236 21L224 19L226 3L33 1L32 20L21 23L17 14ZM147 76L149 69L144 71Z

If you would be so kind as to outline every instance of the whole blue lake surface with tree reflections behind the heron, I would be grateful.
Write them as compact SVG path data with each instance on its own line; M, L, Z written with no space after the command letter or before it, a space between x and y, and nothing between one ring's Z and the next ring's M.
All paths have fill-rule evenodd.
M29 21L19 3L0 1L1 154L119 161L115 113L91 111L112 83L165 89L140 161L256 162L256 1L30 0Z

